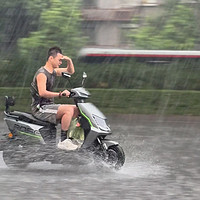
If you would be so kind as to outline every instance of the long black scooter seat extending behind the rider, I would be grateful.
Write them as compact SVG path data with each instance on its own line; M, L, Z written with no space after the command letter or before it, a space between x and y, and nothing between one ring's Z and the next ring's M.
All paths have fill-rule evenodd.
M55 125L50 122L41 121L35 118L31 113L13 111L13 112L10 112L10 115L17 116L19 120L22 120L28 123L33 123L33 124L42 125L42 126Z

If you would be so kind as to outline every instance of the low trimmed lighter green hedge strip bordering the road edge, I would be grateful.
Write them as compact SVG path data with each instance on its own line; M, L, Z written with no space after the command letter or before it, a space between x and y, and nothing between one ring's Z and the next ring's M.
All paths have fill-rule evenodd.
M94 103L105 113L200 115L200 92L177 90L89 89ZM29 88L1 88L0 111L5 109L4 96L14 96L11 110L30 112ZM72 99L55 99L56 103L73 103Z

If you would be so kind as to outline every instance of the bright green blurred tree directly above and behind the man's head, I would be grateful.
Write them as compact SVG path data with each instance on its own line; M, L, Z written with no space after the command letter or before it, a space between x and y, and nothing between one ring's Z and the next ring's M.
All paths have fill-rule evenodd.
M42 11L38 30L18 41L21 55L42 60L51 46L60 46L64 53L75 57L84 44L81 35L80 0L49 0Z

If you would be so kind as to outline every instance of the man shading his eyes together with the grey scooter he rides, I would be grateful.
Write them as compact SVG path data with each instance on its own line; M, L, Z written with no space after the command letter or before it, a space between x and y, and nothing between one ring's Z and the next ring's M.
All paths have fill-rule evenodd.
M107 138L112 131L106 116L92 102L87 101L90 97L89 91L84 88L87 74L83 73L81 86L72 87L70 92L53 92L55 76L62 72L62 77L69 81L71 76L67 72L73 73L74 67L71 59L63 56L57 47L51 50L45 66L36 72L31 84L32 111L35 117L26 112L10 111L10 106L15 105L14 97L5 97L4 120L10 132L7 135L9 145L3 151L4 162L8 166L17 167L44 160L52 164L68 164L66 151L57 150L53 145L57 141L56 125L61 122L61 136L64 139L62 137L58 148L79 148L80 151L76 153L83 155L89 152L98 163L101 160L115 169L120 169L125 162L124 151L118 142ZM68 60L66 68L58 68L62 59ZM69 96L69 93L74 105L54 104L54 97L61 97L62 94ZM73 117L77 120L70 123Z

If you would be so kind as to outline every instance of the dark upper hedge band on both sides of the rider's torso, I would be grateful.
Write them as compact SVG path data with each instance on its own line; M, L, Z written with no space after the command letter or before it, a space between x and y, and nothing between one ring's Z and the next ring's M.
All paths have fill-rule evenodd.
M6 73L0 74L0 86L29 87L38 66L34 69L23 64L18 74L6 68ZM74 61L74 65L76 73L71 78L73 86L80 86L85 71L88 75L86 87L89 88L200 90L200 61L190 59L166 64L136 62L134 59L121 63ZM19 75L22 78L18 78ZM56 87L70 86L65 79L57 77Z

